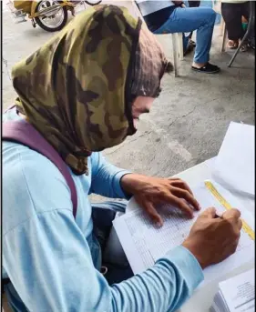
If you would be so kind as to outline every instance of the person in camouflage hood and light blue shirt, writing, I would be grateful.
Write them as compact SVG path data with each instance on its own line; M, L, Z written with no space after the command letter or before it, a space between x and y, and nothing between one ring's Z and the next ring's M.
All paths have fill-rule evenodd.
M104 250L89 194L135 196L159 226L159 203L176 206L189 218L200 209L184 181L130 173L100 153L136 132L139 116L148 113L171 69L148 28L115 5L77 15L14 66L18 98L3 126L28 123L56 149L77 189L77 215L57 167L35 150L5 140L2 278L9 280L5 293L13 311L175 311L203 280L205 267L235 252L239 211L215 218L210 207L183 244L147 271L118 283L101 273ZM112 219L125 212L125 205L106 206L111 209L98 211Z

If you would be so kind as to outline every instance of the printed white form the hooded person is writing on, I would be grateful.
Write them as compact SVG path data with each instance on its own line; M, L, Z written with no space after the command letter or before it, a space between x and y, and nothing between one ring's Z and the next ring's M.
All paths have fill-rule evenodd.
M221 186L214 183L232 206L239 206L235 202L229 192L225 191ZM201 211L209 206L215 206L218 213L223 213L225 209L210 194L210 191L201 183L192 189L195 197L199 200ZM177 210L173 208L171 216L162 216L164 225L160 228L154 226L148 216L142 209L135 205L134 200L130 200L128 206L133 205L134 208L128 208L128 213L118 217L113 224L118 234L120 243L128 257L128 262L134 274L138 274L152 267L154 263L163 257L171 248L179 246L185 237L188 237L189 230L195 222L196 217L192 220L181 218ZM165 206L170 208L170 206ZM254 230L253 217L251 214L241 207L241 217ZM245 232L241 231L240 244L237 252L218 265L208 267L204 270L204 283L210 282L221 275L230 272L236 267L249 262L254 257L254 241L251 240Z

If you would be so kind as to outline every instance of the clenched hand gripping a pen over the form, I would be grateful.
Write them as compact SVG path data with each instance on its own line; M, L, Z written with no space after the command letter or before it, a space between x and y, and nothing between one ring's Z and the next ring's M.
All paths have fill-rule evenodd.
M205 210L191 227L182 246L196 257L203 268L230 257L238 246L241 235L241 213L237 209L216 216L213 207Z

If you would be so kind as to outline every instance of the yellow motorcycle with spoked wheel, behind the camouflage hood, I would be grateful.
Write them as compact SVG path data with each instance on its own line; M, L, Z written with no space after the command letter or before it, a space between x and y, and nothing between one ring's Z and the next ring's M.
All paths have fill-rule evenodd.
M47 32L61 30L67 24L67 12L75 15L77 5L98 5L102 0L42 0L42 1L12 1L7 3L16 23L26 22L26 16L31 19L32 26L40 26Z

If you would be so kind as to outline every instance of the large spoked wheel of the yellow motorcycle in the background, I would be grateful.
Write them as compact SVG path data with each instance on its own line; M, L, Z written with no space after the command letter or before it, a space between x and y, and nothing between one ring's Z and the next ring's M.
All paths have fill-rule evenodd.
M62 3L62 1L56 0L43 0L38 2L36 5L35 12L40 12L46 7L57 5ZM35 17L36 24L41 27L42 29L46 30L46 32L56 32L61 30L67 24L67 7L62 6L56 9L56 13L48 13L44 16L37 16Z

